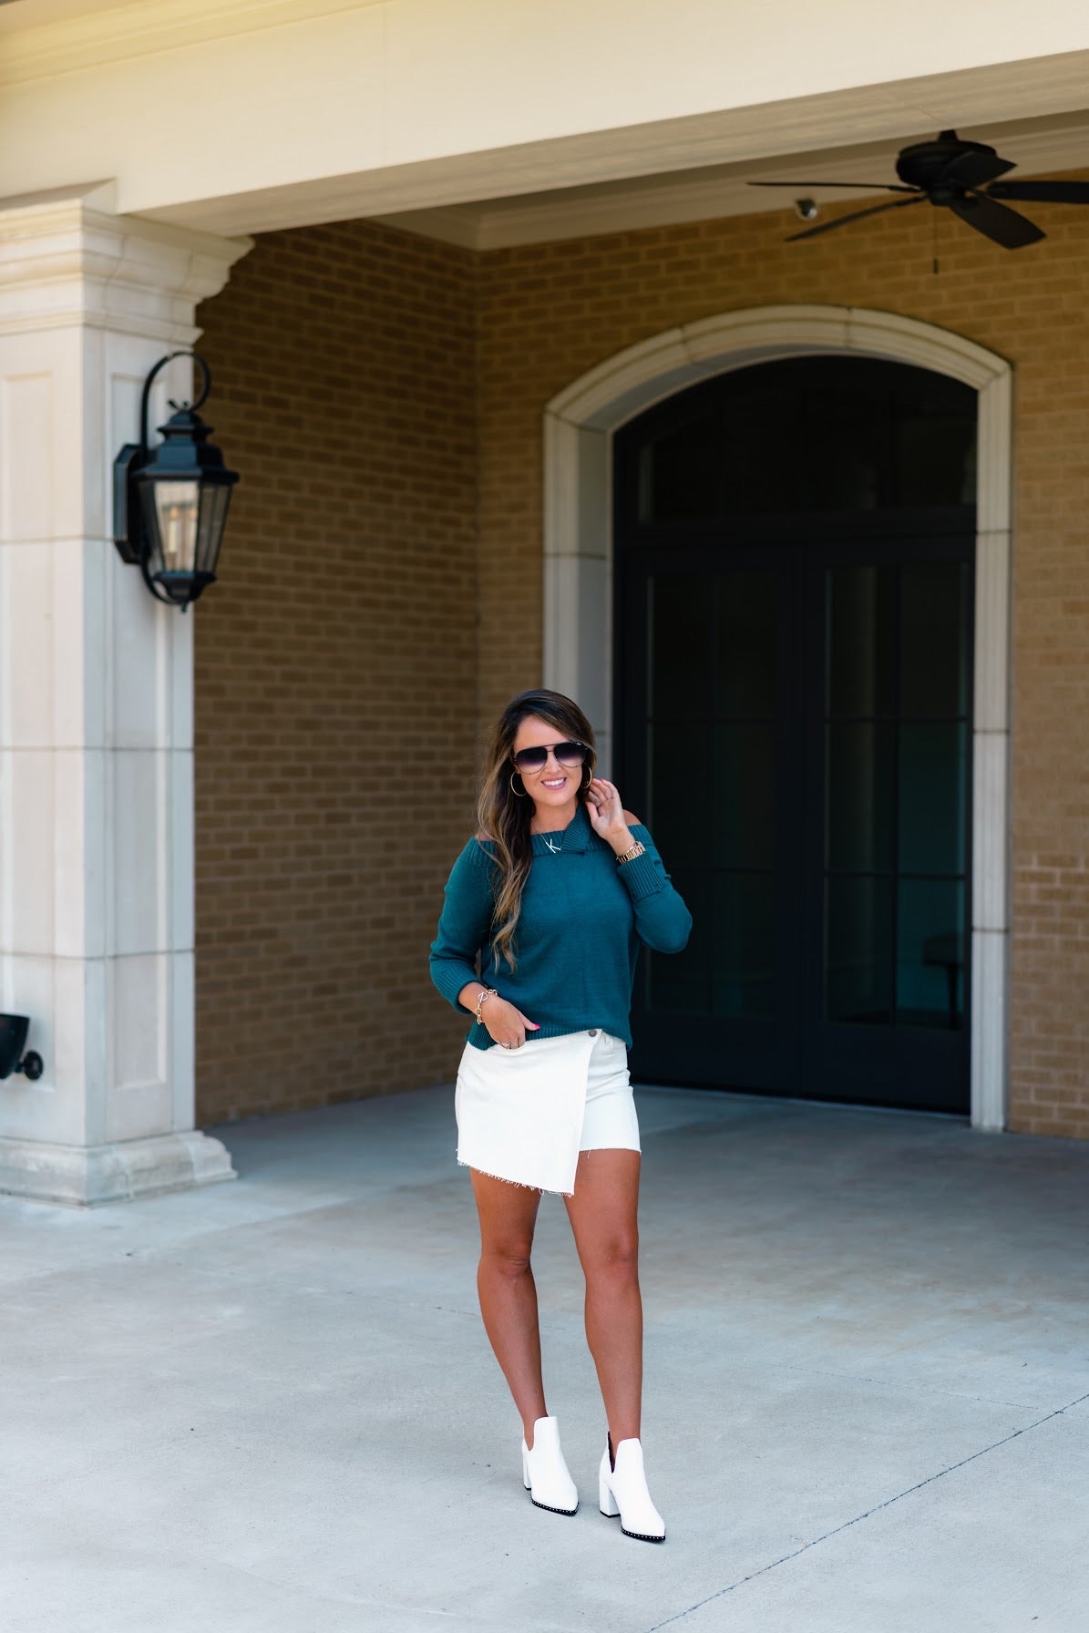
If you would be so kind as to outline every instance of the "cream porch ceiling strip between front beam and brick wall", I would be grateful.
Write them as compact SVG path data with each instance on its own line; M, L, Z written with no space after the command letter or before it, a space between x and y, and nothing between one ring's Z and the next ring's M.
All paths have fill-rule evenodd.
M408 232L424 234L446 243L472 250L498 250L518 243L544 243L557 238L581 238L633 227L661 227L687 220L712 220L722 216L753 216L761 211L787 209L792 199L811 196L820 206L838 199L854 199L862 206L867 194L857 188L798 186L789 189L751 188L749 181L800 180L815 183L821 176L839 181L895 181L895 160L901 147L937 136L937 131L905 131L895 142L860 147L825 149L795 158L746 160L731 165L707 165L699 170L674 170L656 176L604 181L550 193L526 193L514 198L482 199L472 204L449 204L438 209L403 211L379 220ZM965 126L958 136L989 142L1004 158L1016 162L1009 180L1089 170L1089 109L989 124L986 129ZM877 191L877 189L875 189ZM1055 206L1032 206L1033 216ZM820 217L818 217L820 219Z

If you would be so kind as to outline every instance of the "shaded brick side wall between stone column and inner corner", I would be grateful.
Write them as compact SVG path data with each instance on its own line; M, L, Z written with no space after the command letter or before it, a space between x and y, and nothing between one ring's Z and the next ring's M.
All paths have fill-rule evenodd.
M271 234L198 315L243 477L196 624L198 1115L449 1076L426 942L472 821L473 268Z

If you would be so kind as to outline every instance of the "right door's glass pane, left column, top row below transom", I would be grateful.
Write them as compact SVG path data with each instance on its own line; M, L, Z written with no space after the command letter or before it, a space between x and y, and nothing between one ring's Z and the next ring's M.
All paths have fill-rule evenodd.
M828 712L890 715L896 701L896 568L828 570Z

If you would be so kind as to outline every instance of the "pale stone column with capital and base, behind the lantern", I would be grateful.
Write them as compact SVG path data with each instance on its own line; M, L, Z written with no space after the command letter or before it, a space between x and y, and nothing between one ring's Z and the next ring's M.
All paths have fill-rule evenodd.
M201 612L121 562L111 464L248 243L109 206L0 206L0 1009L46 1068L0 1081L0 1190L72 1204L233 1177L194 1130ZM163 371L152 425L188 374Z

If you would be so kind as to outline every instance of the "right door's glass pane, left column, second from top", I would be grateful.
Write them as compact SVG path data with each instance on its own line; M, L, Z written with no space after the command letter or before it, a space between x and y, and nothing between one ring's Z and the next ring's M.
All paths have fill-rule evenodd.
M829 720L828 867L890 872L893 865L895 736L891 720Z

